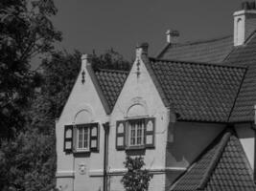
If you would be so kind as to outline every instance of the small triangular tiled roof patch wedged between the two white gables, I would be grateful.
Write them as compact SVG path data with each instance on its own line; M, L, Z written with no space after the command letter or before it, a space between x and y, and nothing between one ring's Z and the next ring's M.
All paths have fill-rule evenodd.
M104 70L95 71L101 90L112 111L114 104L121 93L123 85L128 77L127 71Z

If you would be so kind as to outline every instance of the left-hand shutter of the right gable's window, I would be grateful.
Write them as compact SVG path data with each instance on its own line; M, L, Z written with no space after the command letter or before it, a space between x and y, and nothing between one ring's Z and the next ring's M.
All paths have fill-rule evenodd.
M116 149L126 149L126 120L116 121Z

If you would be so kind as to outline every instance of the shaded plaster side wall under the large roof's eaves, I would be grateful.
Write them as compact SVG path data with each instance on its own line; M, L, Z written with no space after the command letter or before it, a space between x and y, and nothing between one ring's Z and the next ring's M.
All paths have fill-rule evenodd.
M217 123L175 122L169 127L166 166L185 170L217 138L224 125Z

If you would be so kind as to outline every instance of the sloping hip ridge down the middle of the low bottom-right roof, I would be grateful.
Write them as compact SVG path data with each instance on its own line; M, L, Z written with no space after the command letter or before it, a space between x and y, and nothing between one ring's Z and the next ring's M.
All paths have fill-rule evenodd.
M232 135L231 131L232 130L230 130L230 128L228 128L228 127L224 130L220 145L218 146L217 151L215 152L215 154L213 156L213 159L211 160L208 168L206 169L202 180L200 180L198 189L203 189L205 187L206 183L208 182L208 180L210 179L212 172L214 171L216 165L218 164L218 161L221 159L223 150Z

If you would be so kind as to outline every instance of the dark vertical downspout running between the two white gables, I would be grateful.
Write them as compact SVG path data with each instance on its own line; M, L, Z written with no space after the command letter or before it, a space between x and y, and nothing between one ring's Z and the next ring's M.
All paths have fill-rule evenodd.
M107 191L107 159L108 159L108 134L109 134L109 122L104 124L105 130L105 143L104 143L104 191Z

